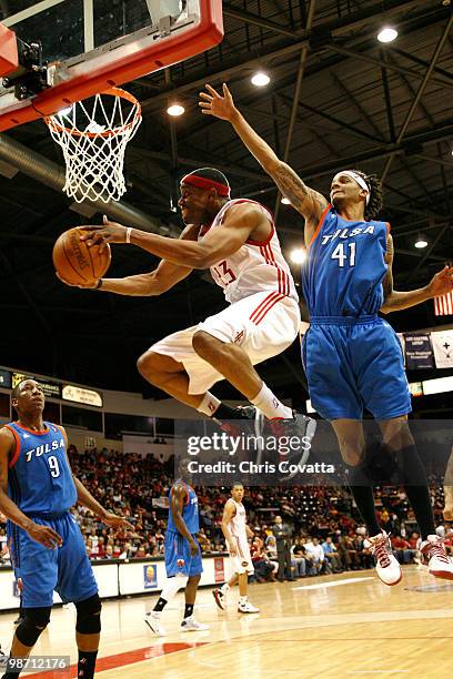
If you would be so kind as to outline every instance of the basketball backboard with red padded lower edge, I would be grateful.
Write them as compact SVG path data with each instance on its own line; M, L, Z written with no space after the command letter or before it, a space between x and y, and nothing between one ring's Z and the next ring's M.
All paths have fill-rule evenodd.
M194 57L223 37L221 0L16 0L1 23L42 43L46 89L0 88L0 131ZM1 11L1 10L0 10Z

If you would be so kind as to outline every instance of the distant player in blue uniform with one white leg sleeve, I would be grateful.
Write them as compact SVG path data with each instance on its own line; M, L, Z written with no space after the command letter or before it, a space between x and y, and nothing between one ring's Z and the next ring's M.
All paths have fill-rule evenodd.
M181 460L179 477L171 487L169 499L169 520L165 531L167 582L153 610L147 614L145 622L158 637L165 636L161 626L162 610L174 595L184 587L185 608L181 622L182 631L202 631L208 625L198 622L193 615L197 588L203 566L198 538L200 534L199 506L197 493L189 485L190 475L187 460Z

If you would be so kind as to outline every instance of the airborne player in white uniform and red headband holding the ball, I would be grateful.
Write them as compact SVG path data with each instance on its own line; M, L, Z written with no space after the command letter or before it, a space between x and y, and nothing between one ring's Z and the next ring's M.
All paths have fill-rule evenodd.
M151 384L217 419L239 419L243 411L210 393L228 379L279 433L311 437L314 420L293 413L263 383L253 365L289 347L298 335L300 312L290 268L283 259L270 212L254 201L230 200L222 172L203 168L181 180L181 214L188 225L180 240L125 229L104 220L87 226L88 243L133 243L162 257L149 274L101 278L95 287L123 295L157 295L190 274L210 268L230 305L198 326L161 340L138 362ZM81 285L80 287L93 287Z

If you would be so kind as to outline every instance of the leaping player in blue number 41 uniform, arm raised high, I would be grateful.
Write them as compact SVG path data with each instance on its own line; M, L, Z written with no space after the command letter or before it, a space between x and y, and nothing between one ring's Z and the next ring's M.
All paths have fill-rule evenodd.
M366 524L379 577L401 579L389 536L381 529L366 469L363 427L366 407L379 420L386 447L395 456L407 498L422 534L421 550L431 574L453 578L434 517L424 467L407 425L411 397L401 346L391 326L378 316L407 308L453 288L453 268L445 267L421 290L393 290L393 243L389 224L376 221L382 186L374 175L345 170L331 183L331 203L310 189L254 132L226 85L223 97L207 85L203 113L228 120L246 148L305 219L309 256L303 271L311 325L303 342L303 363L313 407L332 422L351 490Z

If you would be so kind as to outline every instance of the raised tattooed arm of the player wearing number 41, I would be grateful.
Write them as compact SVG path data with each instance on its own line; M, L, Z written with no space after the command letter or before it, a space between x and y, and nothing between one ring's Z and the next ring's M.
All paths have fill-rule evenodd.
M224 83L223 97L211 85L207 85L207 90L208 93L200 92L202 113L228 120L263 170L273 179L282 194L291 201L293 207L305 217L309 225L316 225L328 205L325 197L306 186L294 170L281 161L271 146L256 134L235 108L230 90Z

